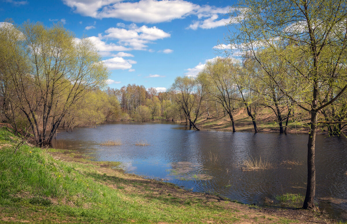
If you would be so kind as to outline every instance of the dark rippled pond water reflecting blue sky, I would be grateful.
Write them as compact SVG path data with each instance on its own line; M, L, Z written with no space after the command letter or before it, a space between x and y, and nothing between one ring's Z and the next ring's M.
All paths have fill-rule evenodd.
M105 140L121 140L122 145L101 146ZM150 145L136 146L138 140ZM305 195L306 134L193 131L174 123L118 122L61 131L53 145L98 161L120 161L128 172L247 204L287 192ZM347 214L346 149L344 137L316 137L316 202L335 217ZM240 170L238 163L251 157L261 157L275 168ZM302 165L281 164L288 160Z

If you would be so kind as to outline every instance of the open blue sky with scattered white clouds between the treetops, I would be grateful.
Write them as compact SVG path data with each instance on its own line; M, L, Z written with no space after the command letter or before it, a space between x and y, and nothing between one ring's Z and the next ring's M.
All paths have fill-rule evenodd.
M233 1L0 0L0 20L46 26L60 21L88 36L111 71L109 86L165 91L175 77L195 76L228 32ZM219 55L222 56L222 55Z

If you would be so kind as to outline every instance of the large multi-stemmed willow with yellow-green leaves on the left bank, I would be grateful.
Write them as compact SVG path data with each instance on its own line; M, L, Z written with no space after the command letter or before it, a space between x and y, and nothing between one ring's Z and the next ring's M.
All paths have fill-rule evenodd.
M105 84L108 70L95 46L61 24L0 27L1 78L16 93L37 145L49 145L69 108ZM2 82L3 83L3 82Z

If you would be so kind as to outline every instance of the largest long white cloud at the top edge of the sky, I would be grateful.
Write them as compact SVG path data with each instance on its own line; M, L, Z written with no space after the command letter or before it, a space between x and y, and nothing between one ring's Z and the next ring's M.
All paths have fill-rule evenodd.
M84 16L118 18L135 23L161 23L195 15L198 20L188 28L210 29L230 21L229 18L219 18L229 12L229 7L199 6L185 0L64 0L64 3ZM125 28L125 24L118 23L117 27Z

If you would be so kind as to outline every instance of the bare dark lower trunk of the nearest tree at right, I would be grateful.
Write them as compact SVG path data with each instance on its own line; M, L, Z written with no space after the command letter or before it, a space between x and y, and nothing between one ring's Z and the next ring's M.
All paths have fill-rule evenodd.
M314 194L316 190L316 169L314 164L314 147L316 140L317 112L311 111L310 132L307 144L307 188L303 208L314 209Z

